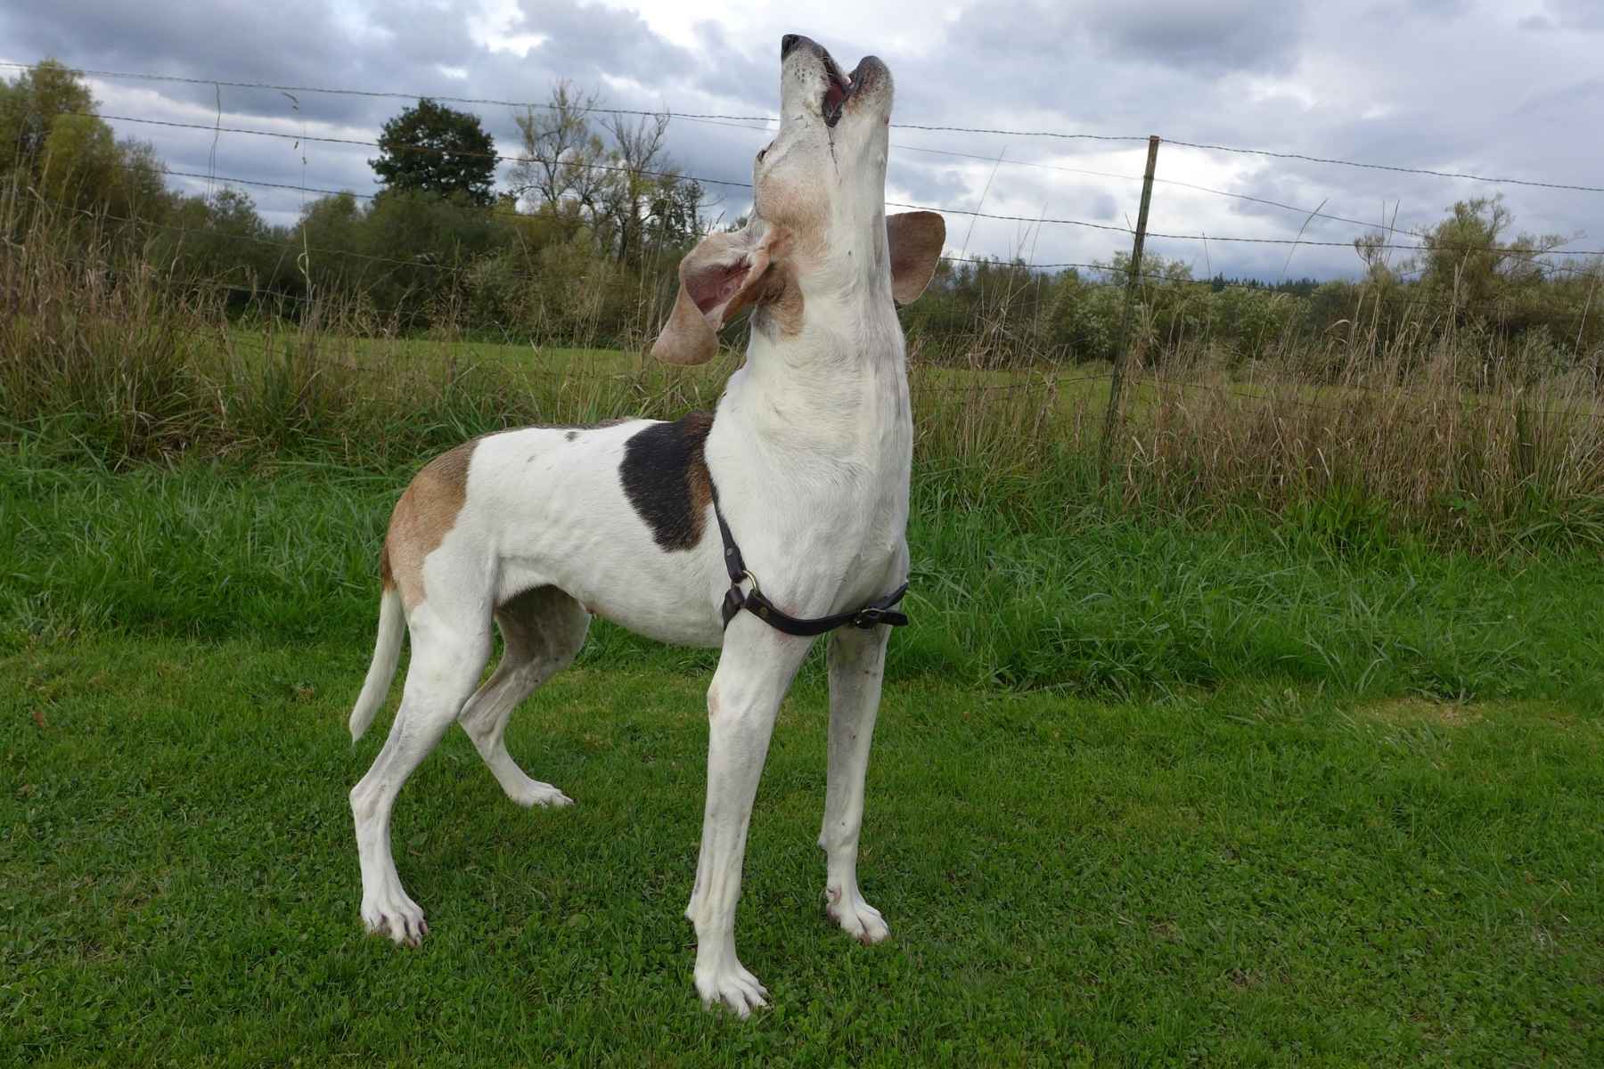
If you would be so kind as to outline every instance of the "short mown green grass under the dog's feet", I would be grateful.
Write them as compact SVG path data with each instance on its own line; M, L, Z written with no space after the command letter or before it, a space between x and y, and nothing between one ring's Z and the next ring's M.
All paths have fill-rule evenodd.
M706 676L576 668L401 795L422 950L364 938L345 793L367 651L99 638L0 657L11 1064L1599 1064L1596 704L1229 686L1102 704L892 680L863 885L820 915L824 696L788 700L706 1015L680 918Z

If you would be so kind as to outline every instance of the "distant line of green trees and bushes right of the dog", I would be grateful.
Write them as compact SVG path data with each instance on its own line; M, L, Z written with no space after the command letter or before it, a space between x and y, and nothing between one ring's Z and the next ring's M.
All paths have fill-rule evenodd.
M1352 280L1195 279L1181 260L1148 255L1132 306L1134 345L1152 359L1185 346L1258 357L1267 349L1315 353L1367 338L1384 349L1474 335L1490 351L1519 349L1532 370L1604 359L1604 261L1545 256L1554 236L1514 234L1500 197L1461 200L1418 234L1367 234L1354 242L1363 274ZM1418 245L1389 260L1387 244ZM1107 269L1031 271L1022 261L943 263L932 293L905 311L909 330L958 345L969 362L1110 359L1124 311L1129 258ZM1466 338L1468 340L1468 338Z

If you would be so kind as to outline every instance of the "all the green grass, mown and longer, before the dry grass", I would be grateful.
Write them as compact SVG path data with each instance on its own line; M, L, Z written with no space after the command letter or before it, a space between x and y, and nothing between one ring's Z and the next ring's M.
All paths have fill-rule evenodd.
M711 659L598 623L401 795L364 938L345 731L401 471L0 460L0 1061L1601 1064L1604 569L916 487L861 878L824 922L804 668L707 1015L680 917ZM1339 537L1338 537L1339 535Z

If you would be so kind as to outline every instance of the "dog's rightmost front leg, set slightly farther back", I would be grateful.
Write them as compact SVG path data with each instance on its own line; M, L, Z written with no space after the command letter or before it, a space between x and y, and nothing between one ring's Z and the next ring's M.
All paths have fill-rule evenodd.
M824 851L824 912L863 944L890 934L881 910L858 893L863 781L881 705L889 627L844 627L829 639L829 779L818 845Z

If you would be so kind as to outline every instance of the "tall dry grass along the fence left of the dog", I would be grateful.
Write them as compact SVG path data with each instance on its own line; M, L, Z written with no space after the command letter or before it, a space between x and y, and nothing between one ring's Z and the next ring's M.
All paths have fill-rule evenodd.
M722 383L719 369L643 359L544 361L550 338L525 340L528 362L486 357L449 314L419 338L403 316L316 292L229 319L236 285L176 279L136 231L14 186L0 196L0 420L112 465L308 450L406 463L508 425L707 405Z

